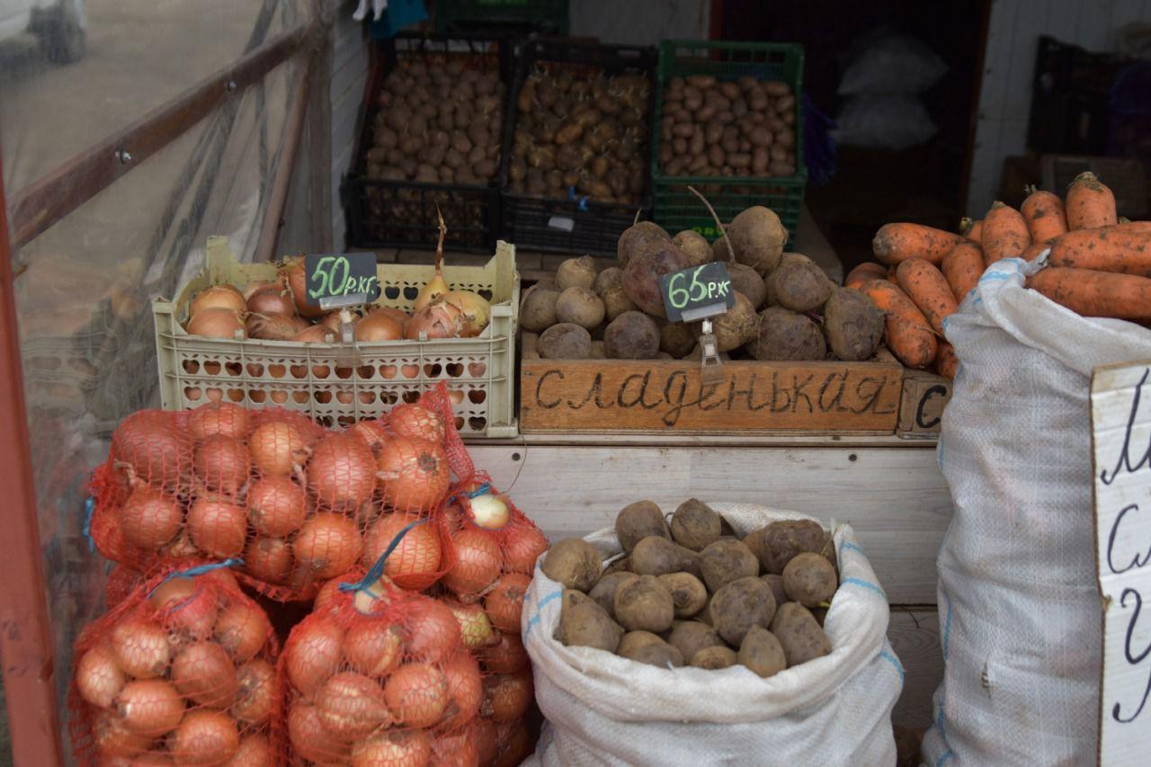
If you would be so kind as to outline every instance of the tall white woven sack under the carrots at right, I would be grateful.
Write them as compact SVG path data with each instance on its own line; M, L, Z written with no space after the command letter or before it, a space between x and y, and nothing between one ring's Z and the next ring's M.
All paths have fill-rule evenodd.
M1151 332L1024 289L1037 268L992 265L945 325L962 362L938 448L955 510L929 765L1096 761L1091 369L1151 358Z

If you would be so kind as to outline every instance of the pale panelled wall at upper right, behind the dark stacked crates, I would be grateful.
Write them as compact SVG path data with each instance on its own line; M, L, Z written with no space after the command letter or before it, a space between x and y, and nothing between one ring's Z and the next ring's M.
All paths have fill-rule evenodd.
M967 212L991 206L1004 158L1022 154L1041 35L1090 51L1114 50L1123 24L1151 22L1151 0L994 0L980 91Z

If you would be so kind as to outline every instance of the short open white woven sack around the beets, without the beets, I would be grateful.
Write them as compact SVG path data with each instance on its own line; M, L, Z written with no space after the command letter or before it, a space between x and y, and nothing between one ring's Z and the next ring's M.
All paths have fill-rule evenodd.
M810 519L716 503L739 534L780 519ZM904 669L886 640L889 608L852 529L833 524L840 585L824 621L833 651L760 678L742 666L661 669L552 638L563 587L539 565L524 601L524 645L548 727L528 764L893 765L891 708ZM587 537L619 553L611 529Z

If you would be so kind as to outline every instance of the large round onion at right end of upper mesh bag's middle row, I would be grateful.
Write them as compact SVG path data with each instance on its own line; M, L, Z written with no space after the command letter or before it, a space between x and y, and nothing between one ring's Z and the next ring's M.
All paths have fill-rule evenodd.
M437 442L396 436L375 458L380 496L397 511L426 511L448 493L451 469Z

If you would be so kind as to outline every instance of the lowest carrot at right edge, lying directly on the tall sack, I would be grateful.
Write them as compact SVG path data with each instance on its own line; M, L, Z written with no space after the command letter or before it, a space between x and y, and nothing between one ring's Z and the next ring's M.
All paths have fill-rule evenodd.
M1027 287L1083 317L1151 321L1151 279L1069 266L1049 266Z

